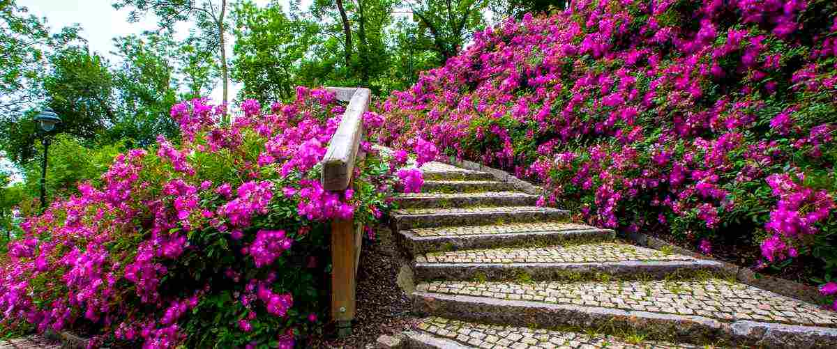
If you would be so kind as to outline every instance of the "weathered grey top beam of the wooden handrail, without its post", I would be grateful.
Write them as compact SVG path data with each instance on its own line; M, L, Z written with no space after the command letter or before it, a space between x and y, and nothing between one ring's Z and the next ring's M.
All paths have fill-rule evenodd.
M363 137L363 114L369 110L371 92L357 89L322 159L322 186L325 190L346 190L352 179L357 150Z

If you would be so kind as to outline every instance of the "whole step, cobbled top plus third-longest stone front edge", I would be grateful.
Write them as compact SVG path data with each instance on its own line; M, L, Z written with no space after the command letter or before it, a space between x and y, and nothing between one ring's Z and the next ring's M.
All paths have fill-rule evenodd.
M441 250L467 250L520 245L614 240L614 230L575 223L512 223L505 225L460 225L401 230L399 243L413 255Z

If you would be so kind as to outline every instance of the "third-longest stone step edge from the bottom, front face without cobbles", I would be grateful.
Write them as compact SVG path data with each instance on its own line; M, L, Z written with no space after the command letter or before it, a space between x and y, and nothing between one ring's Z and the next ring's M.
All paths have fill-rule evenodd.
M470 235L436 235L419 236L413 230L399 230L397 239L399 243L407 248L412 255L444 250L446 247L454 247L456 250L470 250L479 248L492 248L499 245L514 247L532 241L548 241L560 243L566 240L585 238L585 241L595 243L614 240L614 230L599 229L572 229L572 230L532 230L516 233L498 234L470 234Z

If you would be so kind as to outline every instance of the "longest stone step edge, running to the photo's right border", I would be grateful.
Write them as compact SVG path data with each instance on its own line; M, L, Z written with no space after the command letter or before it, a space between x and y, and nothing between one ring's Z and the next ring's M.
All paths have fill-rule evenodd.
M626 311L597 306L497 300L479 296L413 292L413 311L462 321L511 326L616 326L675 335L678 341L712 342L719 338L737 345L777 348L829 347L837 328L773 322L724 322L705 316Z

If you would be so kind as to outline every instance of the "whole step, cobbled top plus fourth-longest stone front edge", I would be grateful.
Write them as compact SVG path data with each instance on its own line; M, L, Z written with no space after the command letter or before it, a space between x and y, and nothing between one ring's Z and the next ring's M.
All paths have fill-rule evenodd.
M567 220L566 210L537 206L496 206L446 209L398 209L392 213L396 231L451 225L498 225Z

